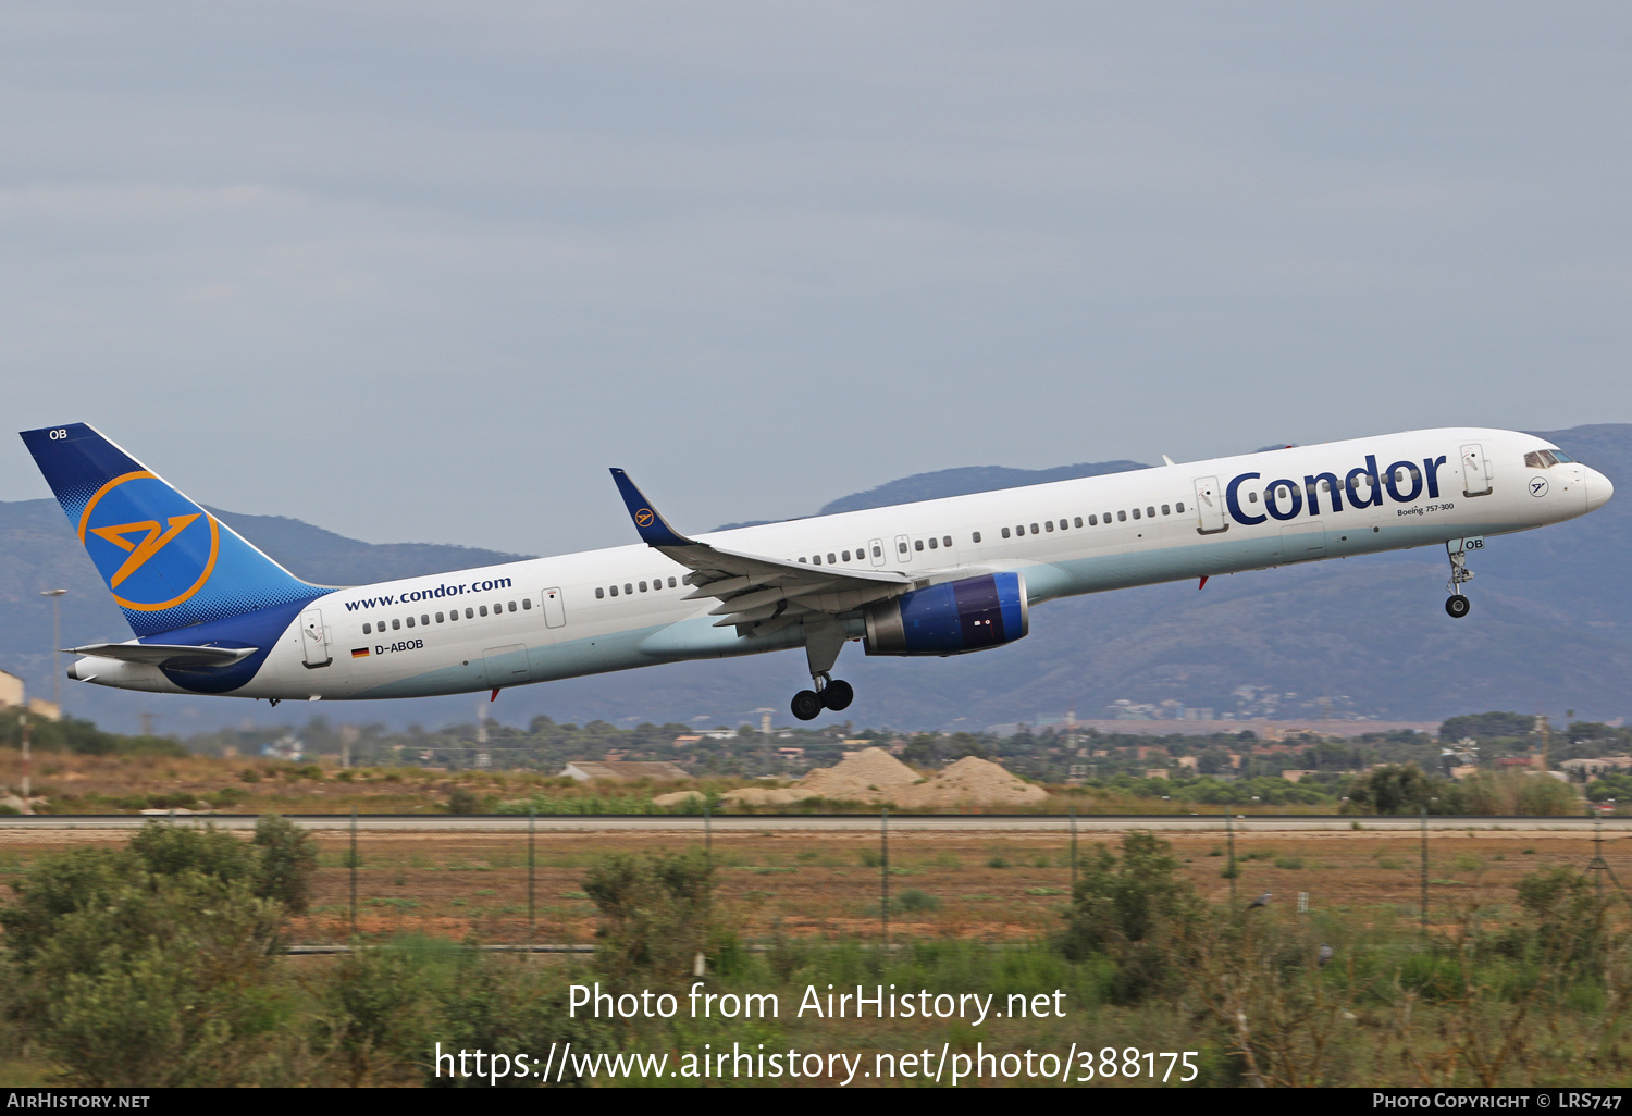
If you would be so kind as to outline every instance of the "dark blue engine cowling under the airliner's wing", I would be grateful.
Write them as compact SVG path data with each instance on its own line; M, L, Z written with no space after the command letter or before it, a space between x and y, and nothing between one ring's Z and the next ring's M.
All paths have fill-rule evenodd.
M867 610L868 654L961 654L1013 643L1030 630L1017 573L917 589Z

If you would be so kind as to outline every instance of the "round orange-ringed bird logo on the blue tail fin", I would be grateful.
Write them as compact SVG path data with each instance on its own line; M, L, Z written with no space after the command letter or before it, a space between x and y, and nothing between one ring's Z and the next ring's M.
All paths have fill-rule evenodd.
M173 609L209 581L220 551L215 519L142 470L96 489L80 542L114 600L137 612Z

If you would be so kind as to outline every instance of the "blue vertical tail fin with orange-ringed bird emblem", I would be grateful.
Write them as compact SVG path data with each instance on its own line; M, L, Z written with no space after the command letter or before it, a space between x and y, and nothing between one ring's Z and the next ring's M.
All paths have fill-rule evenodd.
M85 423L23 431L137 636L310 600L308 586Z

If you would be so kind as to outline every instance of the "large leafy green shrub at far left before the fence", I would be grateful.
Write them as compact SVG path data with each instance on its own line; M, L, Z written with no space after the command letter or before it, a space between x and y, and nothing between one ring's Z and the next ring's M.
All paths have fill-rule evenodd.
M140 852L80 850L15 884L0 925L21 963L16 1010L78 1085L248 1080L277 1023L279 909L219 842L137 837Z

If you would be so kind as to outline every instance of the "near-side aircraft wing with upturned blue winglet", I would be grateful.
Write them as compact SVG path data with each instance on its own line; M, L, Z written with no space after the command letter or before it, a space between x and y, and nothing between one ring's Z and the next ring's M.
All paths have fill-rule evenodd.
M721 550L679 534L658 514L651 501L622 468L612 470L635 530L641 540L674 561L692 569L685 584L687 600L716 597L716 628L747 628L764 635L806 617L832 617L873 600L894 597L912 582L885 569L845 569L839 566L806 566L780 558Z

